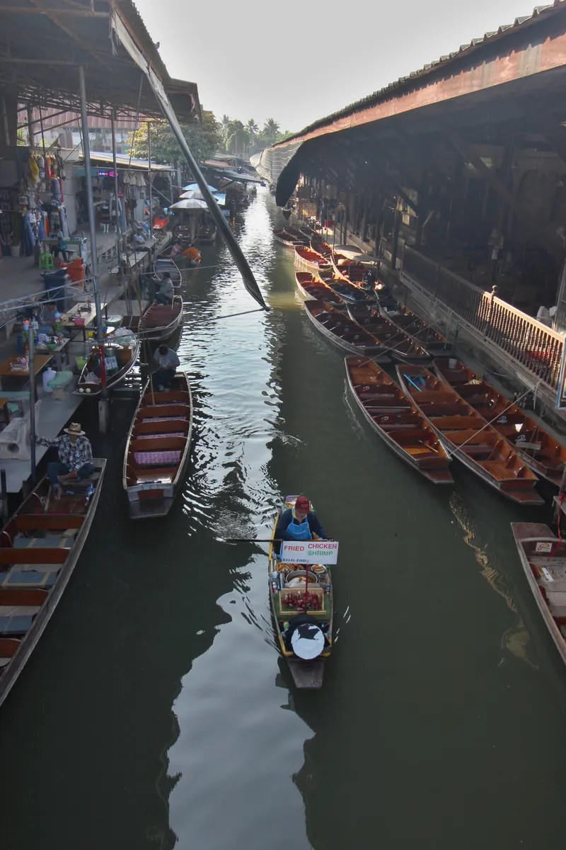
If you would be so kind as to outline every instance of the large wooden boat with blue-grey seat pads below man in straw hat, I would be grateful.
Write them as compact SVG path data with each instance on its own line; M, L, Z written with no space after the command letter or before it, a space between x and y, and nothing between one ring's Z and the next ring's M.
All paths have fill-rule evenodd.
M47 478L0 533L0 705L53 615L87 540L106 461L53 498Z

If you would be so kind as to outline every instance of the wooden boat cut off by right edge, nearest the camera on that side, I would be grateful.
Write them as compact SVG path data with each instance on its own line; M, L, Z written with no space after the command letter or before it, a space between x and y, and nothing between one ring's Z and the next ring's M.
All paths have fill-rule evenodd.
M566 662L566 541L539 523L512 523L511 528L524 575Z

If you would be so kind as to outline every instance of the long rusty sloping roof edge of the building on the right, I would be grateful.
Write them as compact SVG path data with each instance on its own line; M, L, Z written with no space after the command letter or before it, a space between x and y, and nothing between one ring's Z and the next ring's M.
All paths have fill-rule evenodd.
M384 86L384 88L380 88L377 92L373 92L373 94L368 94L367 97L362 98L361 100L356 100L355 103L350 104L349 106L345 106L344 109L341 109L338 112L333 112L331 115L328 115L324 118L319 118L318 121L309 124L308 127L305 127L304 129L300 130L299 133L294 133L294 135L289 136L282 142L278 142L277 144L273 145L273 147L281 147L284 144L289 144L289 142L293 141L293 139L299 139L301 136L304 136L307 133L311 133L318 127L323 127L325 124L331 124L338 118L343 118L349 113L364 109L373 101L385 99L386 96L393 94L395 89L403 88L403 86L408 80L414 82L417 78L424 77L426 74L429 74L432 71L437 71L442 65L447 65L448 63L453 62L455 59L462 57L463 54L466 54L468 52L471 53L474 50L480 50L485 46L486 43L498 40L504 35L507 36L510 31L517 31L519 27L529 26L530 24L534 23L535 19L539 18L541 15L546 16L547 14L555 13L560 8L566 8L566 0L554 0L553 3L548 3L546 6L535 6L532 14L524 15L520 18L515 18L513 24L502 24L502 26L500 26L496 31L485 32L483 37L473 38L472 41L468 44L461 44L460 48L454 51L454 53L447 54L445 56L440 56L440 58L436 59L434 62L429 62L427 65L424 65L423 68L421 68L419 71L412 71L412 73L406 75L406 77L400 77L398 80L395 80L395 82L389 82L389 84L387 86Z

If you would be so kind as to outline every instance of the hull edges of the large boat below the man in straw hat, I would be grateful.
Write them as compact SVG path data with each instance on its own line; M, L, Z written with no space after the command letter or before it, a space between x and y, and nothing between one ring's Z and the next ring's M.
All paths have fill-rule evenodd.
M33 649L35 649L36 644L39 641L39 638L41 638L42 633L48 625L48 622L51 619L54 610L59 604L59 600L63 595L65 587L67 587L67 585L69 584L70 577L73 574L73 570L75 570L76 562L79 559L82 547L84 547L85 542L87 541L88 532L90 531L92 519L94 519L94 514L96 513L98 500L100 498L100 491L102 489L102 482L104 479L104 471L106 469L106 459L92 458L92 464L95 467L95 471L98 472L98 481L96 482L94 493L88 501L87 513L85 513L84 515L84 520L81 524L81 528L79 529L77 535L74 538L74 545L70 548L69 555L66 558L63 567L59 570L57 578L54 581L53 587L51 587L48 592L47 600L42 605L42 608L36 615L31 628L28 632L25 633L25 637L21 639L20 647L15 652L8 666L3 666L2 668L0 668L0 706L8 696L10 690L14 687L14 683L20 675L20 672L23 670L25 662L29 659ZM27 515L25 513L26 506L31 506L31 503L36 499L37 492L41 491L43 487L47 486L47 484L47 478L42 479L42 481L37 484L35 490L31 493L31 495L28 496L28 498L23 502L18 511L14 514L14 516L10 520L8 520L8 523L6 524L6 526L4 526L4 530L8 529L10 527L10 524L12 524L14 520L18 517L23 517ZM45 513L37 514L37 516L46 515L48 516L48 514ZM2 549L0 549L0 551L2 551ZM42 575L43 580L45 581L45 573L38 575ZM42 586L34 586L30 582L27 587Z

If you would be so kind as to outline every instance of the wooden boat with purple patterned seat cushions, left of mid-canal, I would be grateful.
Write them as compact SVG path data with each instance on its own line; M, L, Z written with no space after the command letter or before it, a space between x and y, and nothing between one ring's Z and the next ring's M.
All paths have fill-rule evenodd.
M122 484L132 519L165 517L183 482L193 428L188 377L177 372L171 389L156 392L148 381L132 420Z

